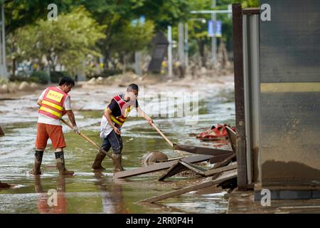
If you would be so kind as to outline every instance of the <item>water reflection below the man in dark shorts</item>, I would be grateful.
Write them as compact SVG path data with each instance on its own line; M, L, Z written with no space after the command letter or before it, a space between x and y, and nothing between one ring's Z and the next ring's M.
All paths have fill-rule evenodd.
M129 214L127 204L123 199L122 185L118 182L110 185L110 180L102 172L94 172L95 185L102 195L102 213L105 214ZM108 185L109 184L109 185Z

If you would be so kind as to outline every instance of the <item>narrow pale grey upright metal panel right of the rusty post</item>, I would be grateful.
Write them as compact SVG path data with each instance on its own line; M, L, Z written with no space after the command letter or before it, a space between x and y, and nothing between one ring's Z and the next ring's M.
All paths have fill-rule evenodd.
M243 15L243 49L247 182L251 184L259 179L260 173L259 15Z

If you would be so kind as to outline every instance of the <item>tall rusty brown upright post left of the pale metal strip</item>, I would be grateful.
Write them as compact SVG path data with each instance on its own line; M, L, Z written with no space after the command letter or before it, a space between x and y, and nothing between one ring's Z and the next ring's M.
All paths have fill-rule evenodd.
M235 129L238 161L238 189L247 190L247 157L245 140L245 89L243 77L242 6L233 4L233 66L235 72Z

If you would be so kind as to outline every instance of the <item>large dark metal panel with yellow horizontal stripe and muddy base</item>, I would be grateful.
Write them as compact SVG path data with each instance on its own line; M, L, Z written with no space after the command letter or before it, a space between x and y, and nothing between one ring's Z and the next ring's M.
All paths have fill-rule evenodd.
M320 185L320 1L260 2L262 185Z

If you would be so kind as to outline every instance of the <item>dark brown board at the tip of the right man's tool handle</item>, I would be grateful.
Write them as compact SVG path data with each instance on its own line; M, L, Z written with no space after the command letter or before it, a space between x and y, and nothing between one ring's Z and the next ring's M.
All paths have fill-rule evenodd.
M182 150L186 152L191 152L193 154L198 154L198 155L224 155L224 154L231 154L233 151L231 150L220 150L216 148L210 148L210 147L196 147L193 145L178 145L174 144L174 149L175 150Z

